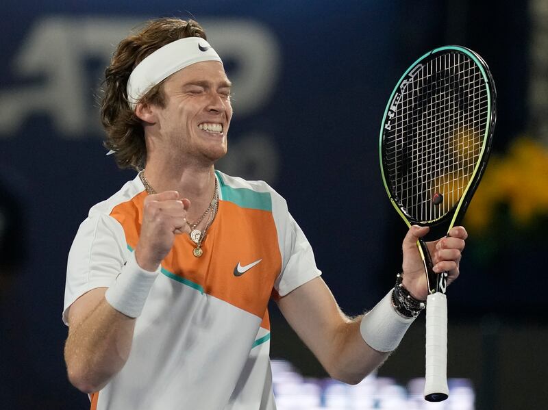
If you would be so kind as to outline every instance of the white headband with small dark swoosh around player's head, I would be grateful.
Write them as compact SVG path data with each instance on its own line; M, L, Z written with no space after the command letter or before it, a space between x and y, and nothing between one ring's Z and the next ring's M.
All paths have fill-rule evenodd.
M173 73L201 61L221 61L206 40L187 37L175 40L147 55L129 75L127 80L127 102L132 110L142 97Z

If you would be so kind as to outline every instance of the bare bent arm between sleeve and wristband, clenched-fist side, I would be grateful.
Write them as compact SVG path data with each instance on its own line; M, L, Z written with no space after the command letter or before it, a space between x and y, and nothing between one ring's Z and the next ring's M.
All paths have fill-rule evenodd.
M64 357L69 380L83 392L97 392L123 368L132 346L135 319L102 298L87 318L69 328Z

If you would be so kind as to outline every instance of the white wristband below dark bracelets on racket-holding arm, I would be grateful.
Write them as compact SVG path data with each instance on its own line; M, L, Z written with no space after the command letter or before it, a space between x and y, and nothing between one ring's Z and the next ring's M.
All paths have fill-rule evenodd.
M360 324L360 333L366 344L377 352L391 352L415 318L403 318L392 305L392 290L366 313Z

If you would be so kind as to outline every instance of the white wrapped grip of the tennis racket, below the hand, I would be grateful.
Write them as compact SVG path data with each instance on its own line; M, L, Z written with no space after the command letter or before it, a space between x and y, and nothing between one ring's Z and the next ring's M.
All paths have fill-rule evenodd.
M436 292L426 298L424 398L429 402L440 402L447 397L447 296Z

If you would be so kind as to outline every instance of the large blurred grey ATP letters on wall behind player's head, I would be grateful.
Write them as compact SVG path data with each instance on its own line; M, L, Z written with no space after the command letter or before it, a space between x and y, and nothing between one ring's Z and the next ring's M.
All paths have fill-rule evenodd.
M89 138L90 129L102 135L99 113L90 114L97 109L93 90L99 89L114 44L145 20L92 15L38 19L16 53L0 61L10 64L14 77L0 90L0 138L16 134L34 114L51 118L55 131L66 140ZM208 36L216 39L219 53L234 61L229 77L239 97L240 116L254 114L276 90L281 65L277 38L268 26L247 18L204 18L201 23L210 27Z

